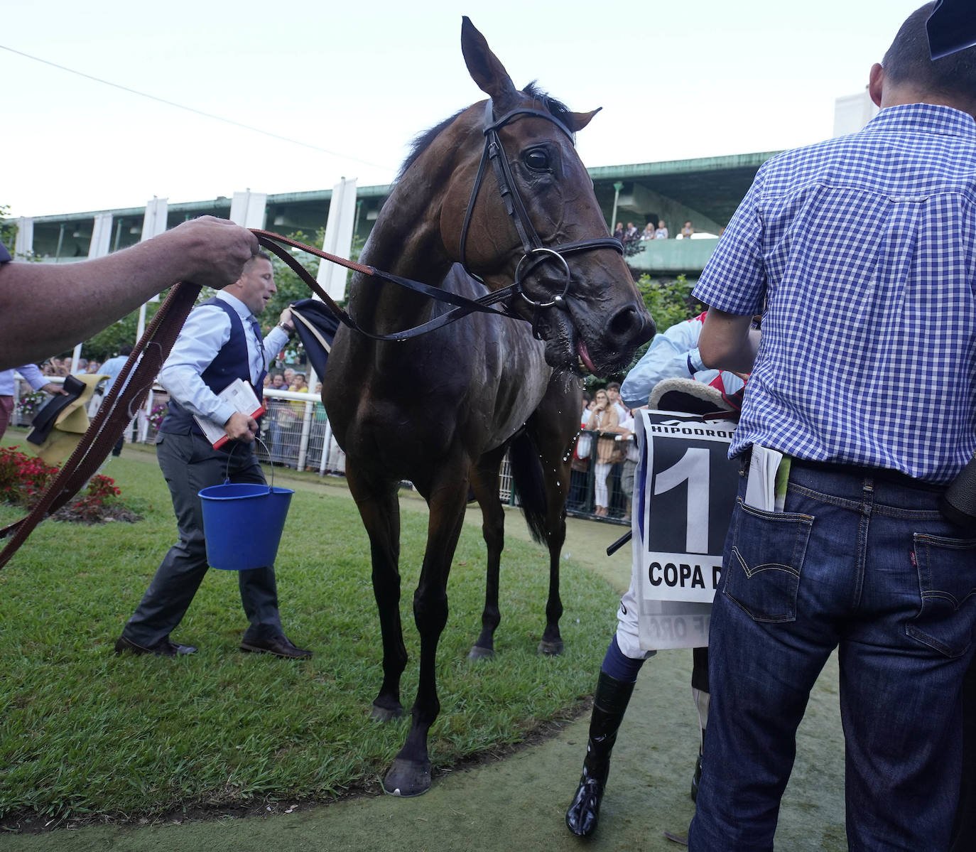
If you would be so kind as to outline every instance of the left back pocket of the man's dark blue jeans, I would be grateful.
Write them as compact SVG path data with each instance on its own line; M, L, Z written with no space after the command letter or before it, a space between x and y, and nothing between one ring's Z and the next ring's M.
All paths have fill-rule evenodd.
M757 622L796 619L796 591L813 518L764 511L739 498L722 593Z

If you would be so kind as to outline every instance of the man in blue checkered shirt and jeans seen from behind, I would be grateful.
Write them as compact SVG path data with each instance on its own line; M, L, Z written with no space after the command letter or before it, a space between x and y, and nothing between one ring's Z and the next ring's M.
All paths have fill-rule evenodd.
M864 130L762 166L695 289L705 364L752 371L731 453L791 467L783 511L744 476L732 517L693 850L772 849L837 647L848 843L949 846L976 538L938 498L976 450L976 47L931 61L933 7L872 68Z

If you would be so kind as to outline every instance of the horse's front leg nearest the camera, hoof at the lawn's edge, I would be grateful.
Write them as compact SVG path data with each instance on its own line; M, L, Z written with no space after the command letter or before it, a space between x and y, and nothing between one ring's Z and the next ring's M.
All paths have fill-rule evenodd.
M445 461L443 469L465 469L461 460L453 462ZM437 643L447 624L447 578L465 517L468 478L461 481L441 480L433 488L422 488L421 493L430 507L430 521L424 567L414 593L414 621L421 638L420 682L410 732L383 781L386 792L394 795L420 795L430 788L427 732L440 712L437 699Z

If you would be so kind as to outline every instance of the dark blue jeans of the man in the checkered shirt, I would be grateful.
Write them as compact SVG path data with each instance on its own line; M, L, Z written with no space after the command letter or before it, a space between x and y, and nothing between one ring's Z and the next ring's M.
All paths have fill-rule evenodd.
M794 463L777 514L743 506L743 477L712 607L692 850L773 848L796 728L835 647L850 848L948 847L976 540L906 479Z

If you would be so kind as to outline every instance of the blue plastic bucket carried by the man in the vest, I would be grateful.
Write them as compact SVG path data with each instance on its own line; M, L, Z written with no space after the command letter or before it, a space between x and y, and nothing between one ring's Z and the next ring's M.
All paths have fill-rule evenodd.
M207 561L222 571L248 571L274 564L290 488L231 482L200 492Z

